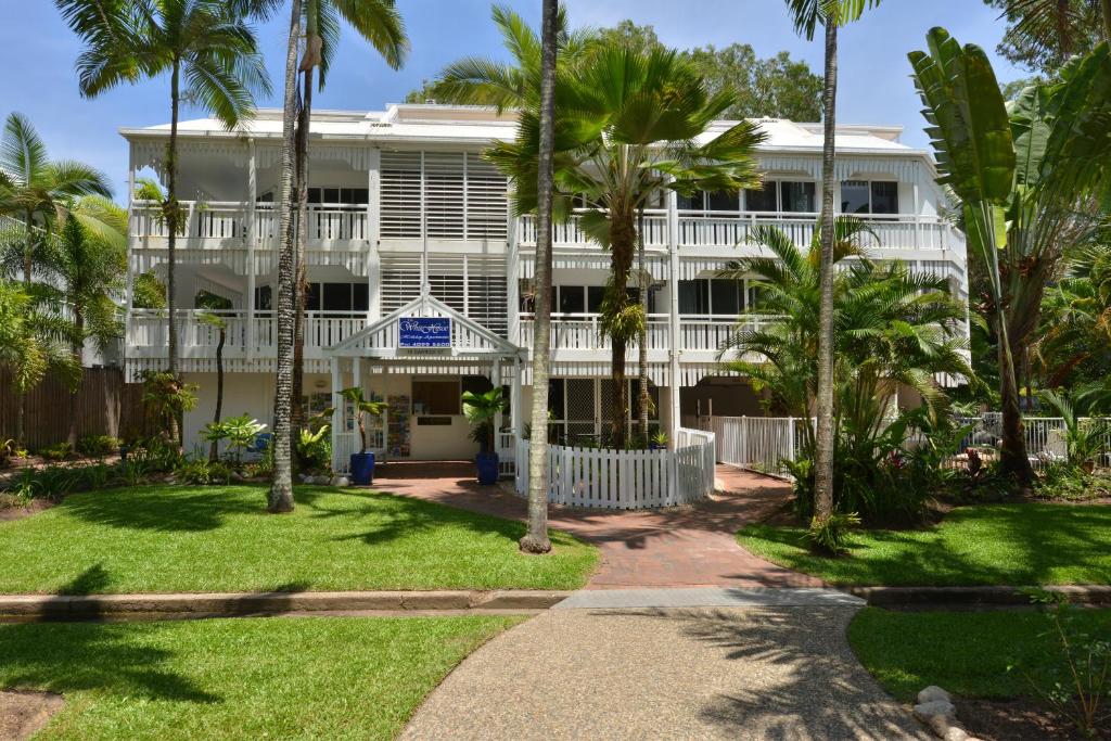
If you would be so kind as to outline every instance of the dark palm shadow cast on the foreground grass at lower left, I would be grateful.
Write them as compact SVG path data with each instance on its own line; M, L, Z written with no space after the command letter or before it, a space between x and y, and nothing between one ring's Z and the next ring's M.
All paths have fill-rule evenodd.
M167 664L174 652L146 638L167 623L26 623L0 625L0 678L9 688L66 694L82 690L141 700L222 702Z

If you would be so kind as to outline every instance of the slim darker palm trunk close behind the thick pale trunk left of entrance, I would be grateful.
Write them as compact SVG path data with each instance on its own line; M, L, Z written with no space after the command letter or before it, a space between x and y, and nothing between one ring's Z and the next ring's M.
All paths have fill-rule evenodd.
M304 307L308 291L308 267L306 250L309 246L309 132L312 120L312 83L313 68L304 70L301 97L301 116L297 127L297 282L293 298L293 393L290 403L293 405L292 424L290 425L291 450L297 450L297 435L304 427L304 409L301 397L304 395Z

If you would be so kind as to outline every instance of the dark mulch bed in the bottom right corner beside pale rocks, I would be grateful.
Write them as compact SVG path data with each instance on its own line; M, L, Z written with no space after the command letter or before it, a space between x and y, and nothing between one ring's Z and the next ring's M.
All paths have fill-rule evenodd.
M1031 700L955 699L957 717L969 732L983 741L1059 741L1083 737L1069 721ZM1107 724L1100 739L1111 739Z

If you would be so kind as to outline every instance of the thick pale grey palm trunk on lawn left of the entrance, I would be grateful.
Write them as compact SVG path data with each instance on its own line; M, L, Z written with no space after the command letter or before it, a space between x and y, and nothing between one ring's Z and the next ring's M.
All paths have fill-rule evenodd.
M286 96L282 111L281 253L278 259L278 372L274 395L273 479L270 483L268 509L271 512L293 511L293 471L290 448L290 394L293 391L293 281L296 234L293 233L293 166L297 117L297 50L301 40L301 0L292 0L289 39L286 48Z

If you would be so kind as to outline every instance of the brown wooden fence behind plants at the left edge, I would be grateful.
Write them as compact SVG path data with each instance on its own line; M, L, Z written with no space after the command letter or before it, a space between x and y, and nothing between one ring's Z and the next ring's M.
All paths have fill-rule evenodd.
M0 368L0 440L16 437L19 395L11 372ZM69 437L70 389L58 375L46 379L27 394L23 417L29 450L64 442ZM77 394L77 433L113 438L149 434L142 405L142 384L124 383L119 368L86 368Z

